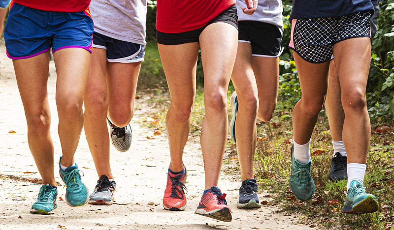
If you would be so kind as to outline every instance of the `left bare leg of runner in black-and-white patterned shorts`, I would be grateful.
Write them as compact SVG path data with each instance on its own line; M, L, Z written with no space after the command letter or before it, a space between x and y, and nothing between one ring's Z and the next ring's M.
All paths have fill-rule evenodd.
M293 52L302 96L293 110L293 137L297 144L306 144L312 136L319 112L323 108L328 87L329 61L309 63Z

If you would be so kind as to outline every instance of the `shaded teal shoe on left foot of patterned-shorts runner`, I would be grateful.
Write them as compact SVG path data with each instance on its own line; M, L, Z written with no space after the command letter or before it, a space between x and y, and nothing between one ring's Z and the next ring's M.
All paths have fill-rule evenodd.
M315 182L311 175L312 160L306 164L301 164L293 156L294 145L292 146L292 173L290 174L290 188L293 194L300 200L309 200L315 193Z

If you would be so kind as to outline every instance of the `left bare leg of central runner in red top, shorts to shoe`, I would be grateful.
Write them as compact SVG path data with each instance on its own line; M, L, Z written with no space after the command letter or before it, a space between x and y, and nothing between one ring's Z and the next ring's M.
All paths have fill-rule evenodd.
M190 115L196 95L196 68L199 45L158 44L171 104L165 117L173 172L183 170L182 155L190 130Z

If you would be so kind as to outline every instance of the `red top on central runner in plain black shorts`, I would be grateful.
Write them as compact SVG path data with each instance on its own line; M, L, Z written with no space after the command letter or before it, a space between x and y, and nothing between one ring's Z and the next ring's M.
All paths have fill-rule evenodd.
M157 0L156 29L180 33L203 27L235 0Z

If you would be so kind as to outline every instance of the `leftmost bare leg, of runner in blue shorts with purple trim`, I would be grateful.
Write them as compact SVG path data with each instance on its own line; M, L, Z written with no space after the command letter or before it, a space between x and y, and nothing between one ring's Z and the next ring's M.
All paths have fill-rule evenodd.
M42 183L57 186L53 171L54 150L49 130L49 51L32 58L14 59L13 64L25 109L30 151L42 177Z

